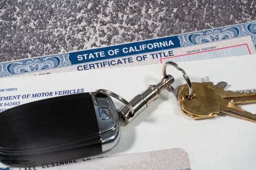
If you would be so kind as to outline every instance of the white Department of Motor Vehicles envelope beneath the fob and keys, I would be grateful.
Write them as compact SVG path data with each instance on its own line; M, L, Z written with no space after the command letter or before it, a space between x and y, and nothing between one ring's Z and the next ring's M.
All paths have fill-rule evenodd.
M177 64L186 71L191 82L211 81L217 84L225 81L228 83L226 90L253 91L256 88L256 55ZM155 64L2 79L0 111L36 100L100 88L111 90L129 101L148 85L160 82L162 66ZM185 83L182 73L174 67L167 67L167 73L174 77L174 87ZM123 106L115 99L114 103L116 108ZM247 104L242 108L255 113L256 106ZM193 120L182 113L174 95L167 90L163 90L160 98L150 103L130 124L123 125L120 134L120 141L114 149L97 156L181 148L189 155L191 169L255 167L256 123L224 114Z

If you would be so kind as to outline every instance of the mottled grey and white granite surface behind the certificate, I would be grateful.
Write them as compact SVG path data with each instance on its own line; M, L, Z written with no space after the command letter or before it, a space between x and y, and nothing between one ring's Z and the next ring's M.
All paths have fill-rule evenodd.
M256 1L0 2L0 62L256 20Z

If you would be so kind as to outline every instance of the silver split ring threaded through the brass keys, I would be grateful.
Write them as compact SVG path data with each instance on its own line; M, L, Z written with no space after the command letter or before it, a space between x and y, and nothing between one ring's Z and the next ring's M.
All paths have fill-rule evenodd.
M180 70L183 73L183 77L186 80L187 86L188 86L188 92L189 92L188 93L188 99L191 99L192 98L192 94L193 94L193 89L192 89L192 84L191 84L191 82L190 82L190 80L188 78L187 73L182 68L178 67L178 65L176 63L174 63L174 62L166 62L165 65L163 65L163 70L162 70L163 77L167 77L167 74L166 74L166 67L167 66L173 66L173 67L175 67L176 69ZM172 85L168 86L168 89L170 91L172 91L173 93L175 93L175 88Z

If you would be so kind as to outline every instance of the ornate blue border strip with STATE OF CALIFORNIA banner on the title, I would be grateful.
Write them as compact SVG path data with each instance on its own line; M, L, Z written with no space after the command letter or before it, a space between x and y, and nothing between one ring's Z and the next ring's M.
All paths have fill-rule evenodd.
M63 54L56 54L56 55L49 55L49 56L41 56L41 57L34 57L26 60L20 61L12 61L12 62L5 62L0 64L0 77L6 77L15 74L23 74L28 72L34 72L39 70L48 70L58 67L65 67L75 64L82 64L88 63L93 61L100 61L105 59L111 59L116 57L124 57L128 55L135 55L147 52L154 52L159 50L167 50L173 49L178 47L186 47L195 44L203 44L208 43L211 41L219 41L225 39L231 39L241 36L251 36L254 46L256 48L256 22L249 22L243 24L237 24L234 26L229 27L222 27L216 29L210 29L205 31L197 31L193 33L187 34L180 34L168 37L161 37L143 41L136 41L132 43L114 45L114 46L107 46L107 47L100 47L96 49L88 49L88 50L81 50L81 51L74 51L69 53ZM119 51L116 55L109 55L109 50L115 49L123 49L130 47L141 47L145 44L154 44L160 42L169 42L172 41L174 45L171 46L164 46L161 48L153 48L153 49L145 49L145 50L138 50L138 51L131 51L129 53L125 53L123 51ZM82 56L83 54L89 53L100 53L104 52L104 57L89 57L86 60L77 60L77 56Z

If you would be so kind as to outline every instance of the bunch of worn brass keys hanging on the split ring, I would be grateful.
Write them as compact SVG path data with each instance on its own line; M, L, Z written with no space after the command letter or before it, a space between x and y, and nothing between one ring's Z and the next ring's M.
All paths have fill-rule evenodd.
M236 104L256 103L256 93L225 91L216 88L212 82L192 83L193 95L187 99L187 84L177 88L175 96L185 115L193 119L213 118L219 112L256 122L256 115L243 111ZM220 86L221 87L221 86Z

